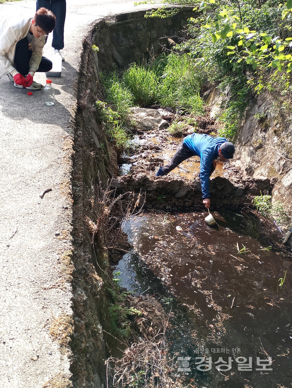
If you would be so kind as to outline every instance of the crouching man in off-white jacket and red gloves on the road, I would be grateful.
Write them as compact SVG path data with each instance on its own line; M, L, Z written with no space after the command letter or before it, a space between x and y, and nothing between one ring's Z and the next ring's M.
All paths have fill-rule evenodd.
M52 62L42 57L42 52L55 23L53 12L43 7L34 18L4 20L0 25L0 76L7 74L17 88L41 89L34 75L52 69Z

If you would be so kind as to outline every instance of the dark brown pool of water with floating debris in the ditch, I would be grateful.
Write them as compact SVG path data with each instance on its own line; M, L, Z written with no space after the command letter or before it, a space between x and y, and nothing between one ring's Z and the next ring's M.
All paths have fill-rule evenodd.
M194 387L292 387L292 261L244 213L215 212L214 228L207 214L127 219L134 248L116 268L121 285L174 312L171 351Z

